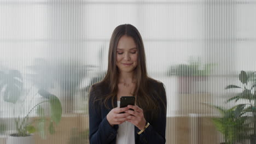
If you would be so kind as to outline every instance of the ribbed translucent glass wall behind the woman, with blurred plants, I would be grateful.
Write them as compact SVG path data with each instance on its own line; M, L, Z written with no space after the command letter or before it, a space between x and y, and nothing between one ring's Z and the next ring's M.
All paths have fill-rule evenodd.
M165 84L166 143L256 143L255 0L0 0L0 143L89 143L88 89L124 23Z

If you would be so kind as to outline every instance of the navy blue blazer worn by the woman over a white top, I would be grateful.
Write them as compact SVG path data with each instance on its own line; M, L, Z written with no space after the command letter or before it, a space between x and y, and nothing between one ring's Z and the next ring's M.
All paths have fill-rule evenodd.
M157 88L156 92L164 100L164 104L160 103L160 99L156 97L156 102L159 102L161 112L158 113L158 117L155 119L146 119L150 123L149 127L143 131L142 134L138 135L137 132L140 131L136 126L134 135L135 143L165 143L165 131L166 131L166 92L163 83L151 81L149 83L153 88ZM96 98L103 97L109 94L109 88L103 83L96 83L91 87L90 98L89 98L89 139L90 143L115 143L117 139L118 125L113 127L108 123L107 114L108 110L104 103L101 105L94 105L93 101ZM115 98L117 101L117 98ZM107 101L107 105L113 109L111 100ZM117 103L114 103L117 107Z

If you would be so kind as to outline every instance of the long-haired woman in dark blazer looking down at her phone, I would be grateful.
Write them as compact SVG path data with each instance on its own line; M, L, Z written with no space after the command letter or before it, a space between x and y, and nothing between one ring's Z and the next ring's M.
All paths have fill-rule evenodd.
M135 106L120 108L121 96L134 96ZM90 143L165 143L165 88L147 75L141 34L132 25L114 29L107 74L90 90L89 124Z

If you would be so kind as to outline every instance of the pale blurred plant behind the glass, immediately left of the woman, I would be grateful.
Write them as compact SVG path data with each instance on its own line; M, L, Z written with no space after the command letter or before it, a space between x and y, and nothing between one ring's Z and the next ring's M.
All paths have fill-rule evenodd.
M32 73L26 76L36 87L47 89L56 83L60 88L63 112L73 113L75 94L80 92L80 85L88 72L97 67L82 64L78 59L62 59L50 64L46 59L36 58L27 68Z

